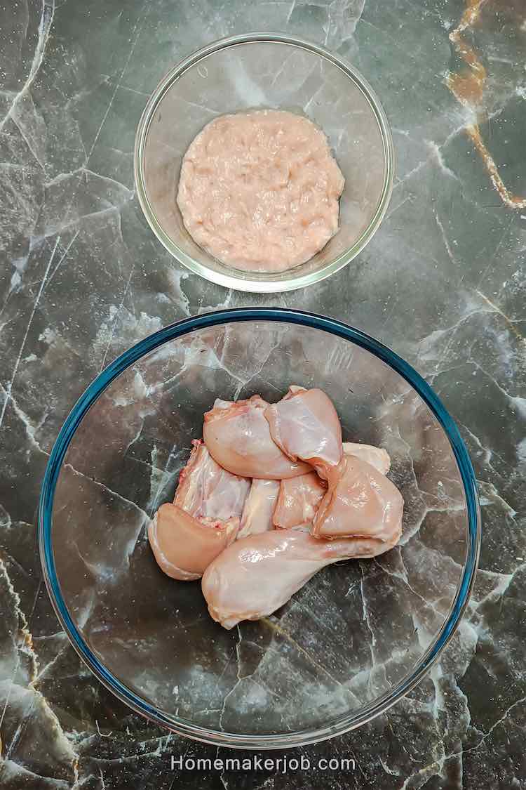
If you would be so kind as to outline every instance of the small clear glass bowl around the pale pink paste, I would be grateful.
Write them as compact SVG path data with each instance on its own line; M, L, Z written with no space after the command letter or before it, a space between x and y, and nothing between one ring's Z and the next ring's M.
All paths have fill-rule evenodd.
M243 272L207 254L176 203L182 157L203 126L262 107L307 115L345 176L338 233L310 261L279 273ZM136 134L136 191L155 235L192 272L239 291L289 291L337 272L372 238L389 203L393 157L386 115L353 66L294 36L251 33L194 52L155 88Z

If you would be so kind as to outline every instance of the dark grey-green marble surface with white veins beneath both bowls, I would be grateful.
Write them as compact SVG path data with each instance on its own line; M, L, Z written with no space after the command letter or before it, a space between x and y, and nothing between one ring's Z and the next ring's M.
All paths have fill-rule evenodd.
M2 788L526 788L523 0L11 0L0 19ZM367 249L271 299L181 269L132 179L136 123L162 74L256 28L349 58L397 154ZM353 757L345 776L173 771L171 755L215 748L166 735L104 690L59 630L39 569L39 486L76 397L147 333L250 304L330 314L405 356L457 419L479 479L479 576L442 659L385 716L297 752Z

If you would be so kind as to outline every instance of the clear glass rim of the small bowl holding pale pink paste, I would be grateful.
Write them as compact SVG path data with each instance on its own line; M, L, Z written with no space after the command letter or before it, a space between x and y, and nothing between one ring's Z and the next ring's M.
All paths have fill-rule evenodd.
M379 130L382 137L384 182L382 185L382 191L379 195L379 201L376 206L375 213L371 217L371 221L367 225L367 228L365 228L358 239L356 239L356 241L353 243L353 246L350 246L347 250L339 254L337 258L334 258L334 261L330 261L330 263L323 265L315 272L304 274L294 274L295 269L289 269L289 276L286 277L286 279L283 278L283 272L274 274L264 272L247 272L243 273L243 276L237 276L234 273L215 271L214 269L210 269L207 265L203 265L200 263L200 261L196 261L195 258L192 258L192 256L186 254L184 250L181 250L181 248L173 242L173 239L170 238L170 235L168 235L168 233L162 227L162 224L159 222L159 220L157 220L155 211L152 209L151 202L147 196L146 179L144 175L144 151L148 130L163 96L165 96L171 85L173 85L173 82L177 81L177 79L181 77L185 71L187 71L192 66L195 66L197 63L203 60L203 58L207 58L208 55L212 55L213 53L221 51L222 49L237 47L246 43L283 43L292 47L305 49L314 53L315 55L326 58L326 60L332 63L333 66L337 66L341 71L343 71L346 76L349 77L351 81L353 81L353 83L356 85L356 88L362 92L364 98L371 107L371 111L379 125ZM326 277L338 272L350 261L352 261L353 258L356 258L356 255L358 255L361 250L364 249L364 246L366 246L367 243L371 241L373 235L375 235L375 232L378 230L382 219L385 216L390 202L391 193L393 191L393 137L386 112L384 111L378 96L376 96L375 91L373 88L371 88L371 85L369 85L365 77L363 77L354 66L347 62L345 58L335 55L333 52L326 49L326 47L322 47L316 43L311 43L310 41L300 38L299 36L291 36L288 33L249 32L237 36L228 36L227 38L219 39L207 44L204 47L200 47L200 49L192 52L190 55L188 55L188 57L184 58L184 60L177 63L176 66L173 66L173 68L168 73L166 73L164 77L162 77L159 85L157 85L155 90L151 93L146 107L144 107L143 114L140 117L139 125L137 126L135 147L133 152L133 175L140 207L143 210L144 216L146 217L147 223L150 225L151 230L155 233L162 245L166 247L166 250L168 250L170 254L173 255L173 258L176 258L177 261L180 261L186 266L187 269L190 269L193 273L204 277L206 280L223 285L225 288L233 288L237 291L249 293L278 293L294 291L297 288L304 288L307 285L325 280ZM230 271L234 272L235 269L230 269Z

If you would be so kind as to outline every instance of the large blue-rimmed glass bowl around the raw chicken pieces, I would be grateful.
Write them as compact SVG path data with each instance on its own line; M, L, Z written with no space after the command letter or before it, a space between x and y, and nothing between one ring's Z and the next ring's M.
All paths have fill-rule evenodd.
M388 450L401 544L327 567L271 617L226 631L198 581L156 566L147 521L216 397L275 401L291 382L329 394L345 440ZM431 388L377 340L294 310L188 318L115 359L66 419L39 506L47 588L95 675L174 732L255 749L345 732L411 690L457 627L479 540L472 465Z

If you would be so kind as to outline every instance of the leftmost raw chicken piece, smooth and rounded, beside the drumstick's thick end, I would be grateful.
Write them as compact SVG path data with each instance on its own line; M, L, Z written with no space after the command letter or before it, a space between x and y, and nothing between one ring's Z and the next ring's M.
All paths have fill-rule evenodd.
M161 505L150 525L148 540L159 568L173 579L199 579L207 566L236 539L239 518L218 521L196 518L177 505Z

